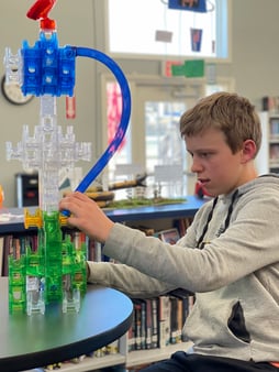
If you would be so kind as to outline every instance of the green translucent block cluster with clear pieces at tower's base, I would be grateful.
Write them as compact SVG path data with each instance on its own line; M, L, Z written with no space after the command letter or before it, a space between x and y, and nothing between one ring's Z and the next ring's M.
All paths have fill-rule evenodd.
M87 244L78 232L63 240L58 211L42 217L37 247L24 245L19 260L9 259L10 310L45 314L47 304L60 303L63 313L79 311L87 289Z

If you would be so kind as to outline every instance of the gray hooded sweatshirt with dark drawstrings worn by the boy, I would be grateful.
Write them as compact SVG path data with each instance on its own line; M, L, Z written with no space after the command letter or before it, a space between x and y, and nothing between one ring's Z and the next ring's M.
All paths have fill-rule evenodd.
M183 327L193 351L279 361L279 178L258 177L205 203L177 244L115 223L89 282L147 298L196 294Z

